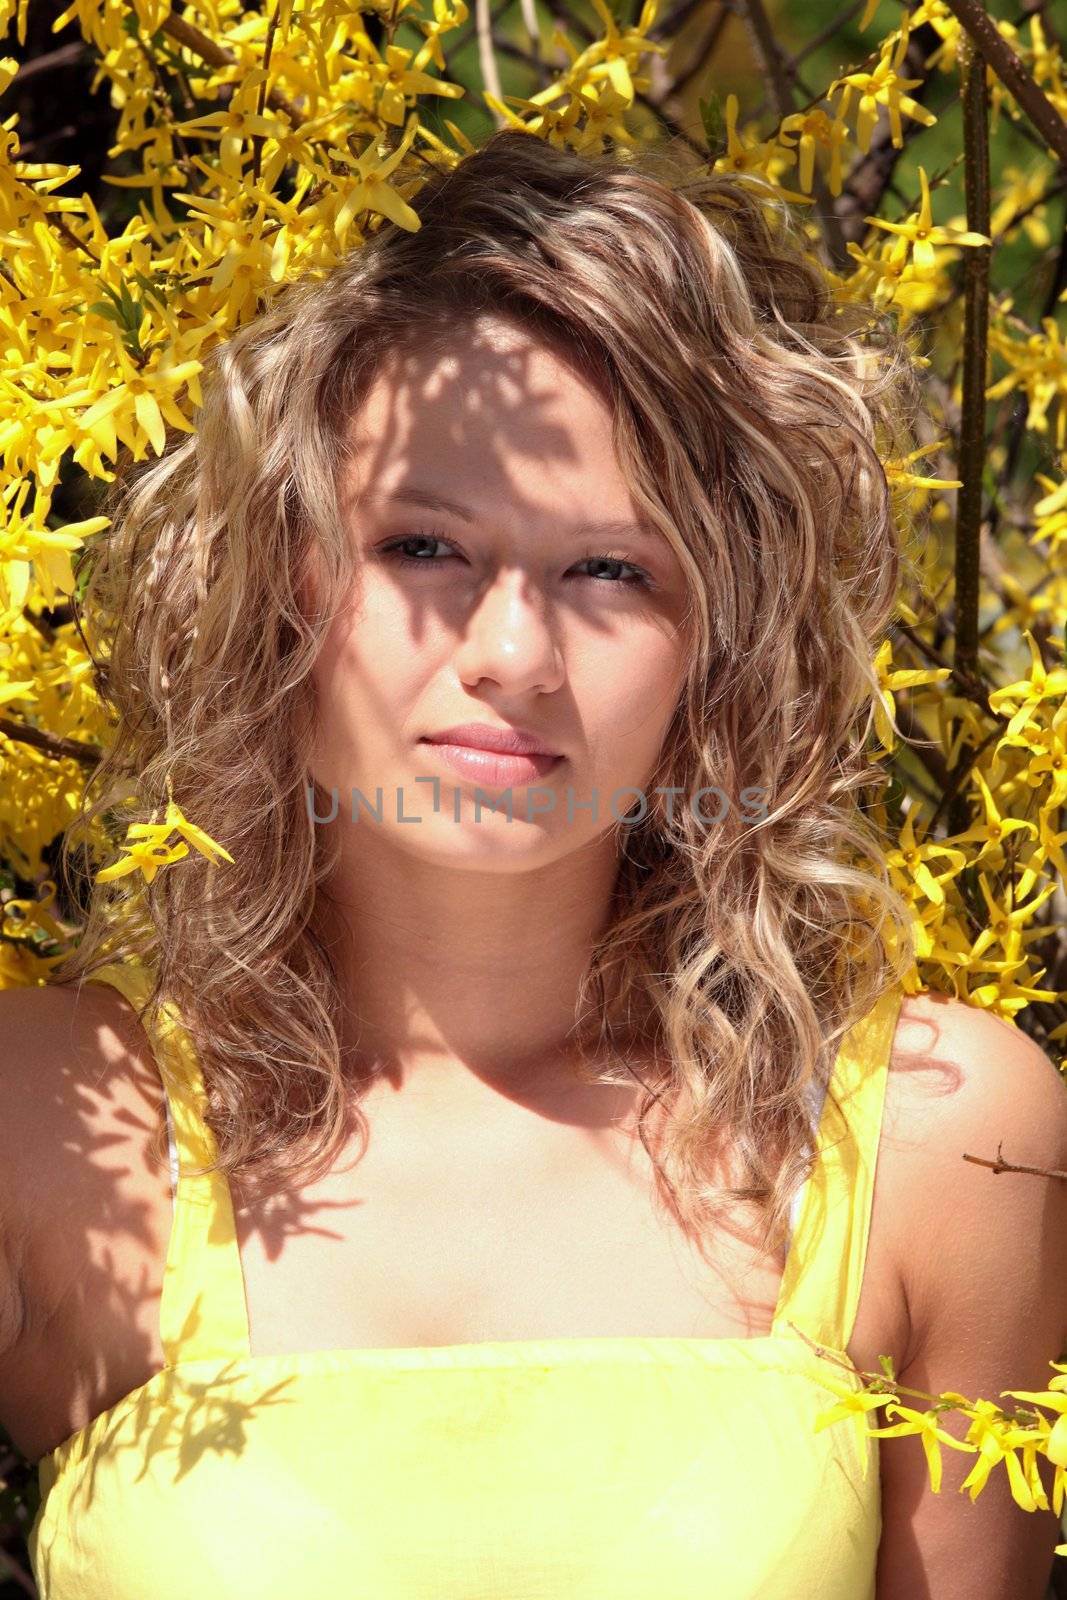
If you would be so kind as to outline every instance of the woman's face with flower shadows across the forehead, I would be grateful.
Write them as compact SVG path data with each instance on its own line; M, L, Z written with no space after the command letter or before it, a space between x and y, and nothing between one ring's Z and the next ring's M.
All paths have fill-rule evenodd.
M349 846L373 830L507 870L603 835L641 794L651 805L686 594L669 542L635 526L601 395L482 318L451 346L394 352L352 440L358 573L314 672L331 826ZM426 742L462 723L523 730L555 758L502 766Z

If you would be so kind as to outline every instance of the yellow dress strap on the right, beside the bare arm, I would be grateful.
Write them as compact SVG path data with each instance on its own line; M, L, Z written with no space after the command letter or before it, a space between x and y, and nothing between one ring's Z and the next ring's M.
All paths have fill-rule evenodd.
M886 1080L904 990L893 984L843 1035L816 1131L816 1165L797 1219L774 1312L846 1354L864 1282Z

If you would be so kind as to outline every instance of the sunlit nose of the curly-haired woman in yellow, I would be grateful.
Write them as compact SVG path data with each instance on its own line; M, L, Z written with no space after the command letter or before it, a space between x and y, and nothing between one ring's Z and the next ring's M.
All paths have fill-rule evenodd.
M499 571L483 590L464 627L456 670L467 686L491 678L515 694L561 685L555 618L528 573Z

